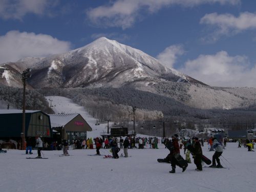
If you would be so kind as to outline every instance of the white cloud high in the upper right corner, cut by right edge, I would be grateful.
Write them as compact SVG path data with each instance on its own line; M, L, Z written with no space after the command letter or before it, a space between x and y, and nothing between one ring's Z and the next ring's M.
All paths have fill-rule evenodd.
M243 12L235 17L231 14L210 13L201 18L200 24L215 28L215 31L206 38L206 40L215 41L222 35L229 36L245 30L256 29L256 14Z

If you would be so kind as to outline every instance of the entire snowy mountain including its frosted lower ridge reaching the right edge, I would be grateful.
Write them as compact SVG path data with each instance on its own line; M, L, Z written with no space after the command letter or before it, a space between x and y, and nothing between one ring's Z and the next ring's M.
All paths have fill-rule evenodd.
M22 87L21 73L32 68L28 89L130 88L172 98L200 109L254 106L256 89L213 88L154 57L101 37L91 44L50 57L30 57L0 65L0 84Z

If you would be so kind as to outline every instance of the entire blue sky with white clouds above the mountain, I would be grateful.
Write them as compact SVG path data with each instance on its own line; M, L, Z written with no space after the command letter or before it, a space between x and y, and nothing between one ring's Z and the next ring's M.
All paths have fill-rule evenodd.
M256 88L254 0L1 0L0 63L105 36L210 86Z

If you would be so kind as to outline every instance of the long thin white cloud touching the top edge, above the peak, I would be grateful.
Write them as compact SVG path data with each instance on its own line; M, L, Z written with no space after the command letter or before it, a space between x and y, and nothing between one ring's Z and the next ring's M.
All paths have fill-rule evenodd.
M166 6L180 5L193 7L201 4L220 3L237 5L240 0L118 0L109 5L87 10L91 22L103 27L130 28L136 20L141 19L140 11L154 13Z

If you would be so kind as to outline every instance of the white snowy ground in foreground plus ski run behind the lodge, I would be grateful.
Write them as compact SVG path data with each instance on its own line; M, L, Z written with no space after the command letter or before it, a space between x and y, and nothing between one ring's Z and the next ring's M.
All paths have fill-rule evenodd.
M95 124L86 112L69 99L51 97L57 112L80 113L88 122ZM66 102L65 105L63 101ZM55 103L54 103L55 102ZM57 102L62 105L58 108ZM80 110L79 110L80 109ZM74 111L73 111L74 110ZM84 113L84 114L82 114ZM97 128L95 128L97 127ZM99 136L105 125L94 125L90 136ZM95 130L97 129L97 130ZM147 146L148 147L148 146ZM214 152L202 147L203 154L211 158ZM69 150L68 157L59 157L61 151L42 151L49 159L26 159L25 151L8 150L0 154L0 191L255 191L256 153L238 148L237 143L227 143L221 157L224 167L195 170L194 163L184 173L177 167L176 174L170 174L170 164L158 163L168 150L162 144L159 149L128 150L129 158L103 159L103 156L88 156L96 150ZM110 155L101 149L102 155ZM121 150L119 155L123 153ZM183 150L181 150L183 155ZM193 159L192 159L193 160Z

